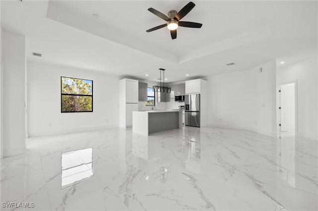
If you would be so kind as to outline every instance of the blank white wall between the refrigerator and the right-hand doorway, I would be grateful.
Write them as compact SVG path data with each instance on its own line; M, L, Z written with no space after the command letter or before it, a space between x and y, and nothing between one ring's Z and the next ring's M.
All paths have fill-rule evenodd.
M209 77L208 125L276 136L275 64Z

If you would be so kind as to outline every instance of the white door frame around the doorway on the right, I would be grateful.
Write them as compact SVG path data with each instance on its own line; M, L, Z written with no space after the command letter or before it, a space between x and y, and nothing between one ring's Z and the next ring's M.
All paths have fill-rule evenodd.
M286 82L281 82L281 83L277 83L276 84L276 102L277 102L277 106L276 106L276 114L277 114L277 133L280 133L280 126L279 124L281 123L281 109L279 109L279 107L281 106L281 95L279 93L280 90L280 86L282 85L286 85L286 84L295 84L295 135L297 135L298 133L298 96L297 96L297 90L298 90L298 85L297 85L297 80L292 80L292 81L286 81Z

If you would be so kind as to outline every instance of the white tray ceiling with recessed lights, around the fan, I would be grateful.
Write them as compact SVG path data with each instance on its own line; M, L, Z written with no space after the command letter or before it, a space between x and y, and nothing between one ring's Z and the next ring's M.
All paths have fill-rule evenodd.
M167 15L188 2L1 0L1 27L26 36L27 60L151 81L159 68L166 69L166 82L175 82L271 59L288 65L318 52L316 0L196 0L182 21L202 23L201 29L179 27L175 40L167 28L146 32L166 23L149 7ZM226 65L231 62L236 65Z

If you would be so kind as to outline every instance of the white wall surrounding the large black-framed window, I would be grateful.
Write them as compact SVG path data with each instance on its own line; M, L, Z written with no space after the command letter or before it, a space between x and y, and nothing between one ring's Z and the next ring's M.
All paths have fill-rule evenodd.
M61 76L93 80L93 112L61 113ZM28 61L27 78L29 136L119 126L118 77Z

